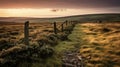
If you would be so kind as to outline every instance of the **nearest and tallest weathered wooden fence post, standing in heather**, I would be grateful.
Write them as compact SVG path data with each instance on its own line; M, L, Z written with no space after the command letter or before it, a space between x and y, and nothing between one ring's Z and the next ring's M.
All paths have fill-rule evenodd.
M24 24L24 43L29 45L29 21L26 21Z

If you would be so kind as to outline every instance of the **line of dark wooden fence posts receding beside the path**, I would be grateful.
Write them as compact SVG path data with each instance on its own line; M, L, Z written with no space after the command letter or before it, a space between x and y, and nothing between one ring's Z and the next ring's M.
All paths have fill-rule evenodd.
M54 34L57 34L58 32L64 32L64 29L68 26L75 25L77 22L73 21L65 21L59 26L57 25L57 22L53 23L53 29L54 29ZM60 28L60 30L58 29ZM25 45L29 45L29 21L26 21L24 23L24 43Z

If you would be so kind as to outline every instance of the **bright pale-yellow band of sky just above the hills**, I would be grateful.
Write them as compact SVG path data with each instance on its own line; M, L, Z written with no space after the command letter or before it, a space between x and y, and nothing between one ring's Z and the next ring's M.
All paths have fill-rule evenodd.
M0 17L61 17L92 13L105 13L107 10L97 9L0 9ZM110 12L110 11L109 11Z

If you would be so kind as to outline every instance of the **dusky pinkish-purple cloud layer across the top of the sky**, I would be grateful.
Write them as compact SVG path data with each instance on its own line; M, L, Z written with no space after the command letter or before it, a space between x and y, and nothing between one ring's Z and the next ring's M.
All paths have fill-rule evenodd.
M111 8L120 0L0 0L0 8Z

